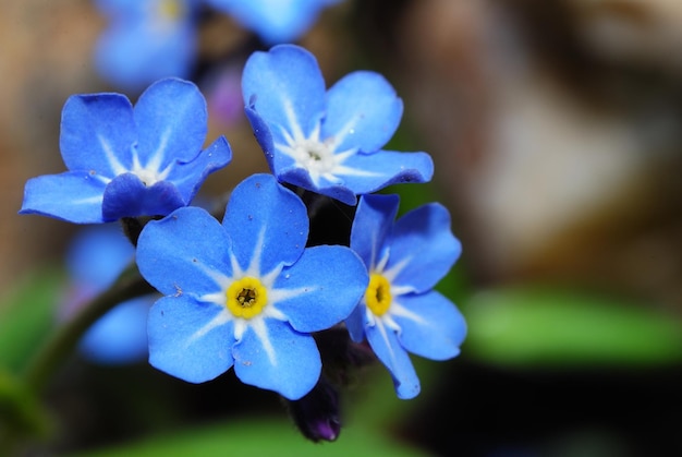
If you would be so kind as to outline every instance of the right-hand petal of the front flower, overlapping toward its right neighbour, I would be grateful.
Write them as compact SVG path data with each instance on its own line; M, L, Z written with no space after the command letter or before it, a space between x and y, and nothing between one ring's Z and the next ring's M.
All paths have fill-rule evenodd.
M292 293L276 306L296 330L324 330L349 316L368 282L365 265L350 249L308 248L275 281L276 290Z

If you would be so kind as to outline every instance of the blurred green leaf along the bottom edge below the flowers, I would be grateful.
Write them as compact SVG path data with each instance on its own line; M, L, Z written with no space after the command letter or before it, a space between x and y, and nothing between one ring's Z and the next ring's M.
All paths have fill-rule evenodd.
M78 454L80 457L174 456L423 456L405 443L354 423L334 443L310 443L284 420L261 418L186 430L139 443Z

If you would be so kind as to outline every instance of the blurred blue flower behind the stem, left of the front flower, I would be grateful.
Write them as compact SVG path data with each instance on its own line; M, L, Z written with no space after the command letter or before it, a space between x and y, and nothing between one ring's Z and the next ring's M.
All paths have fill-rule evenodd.
M66 266L70 273L69 294L62 318L113 284L133 261L133 245L120 227L88 227L72 242ZM142 361L147 357L147 314L151 297L124 301L102 315L81 338L78 349L88 360L103 364Z

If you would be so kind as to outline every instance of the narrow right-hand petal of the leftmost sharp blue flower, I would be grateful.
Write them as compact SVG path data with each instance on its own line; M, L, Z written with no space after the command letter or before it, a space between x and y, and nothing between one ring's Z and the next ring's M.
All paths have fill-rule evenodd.
M188 204L208 175L226 167L232 160L232 149L224 136L219 136L194 159L171 168L167 180L172 182L182 200Z

